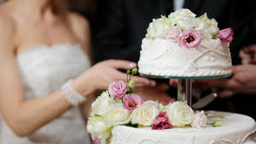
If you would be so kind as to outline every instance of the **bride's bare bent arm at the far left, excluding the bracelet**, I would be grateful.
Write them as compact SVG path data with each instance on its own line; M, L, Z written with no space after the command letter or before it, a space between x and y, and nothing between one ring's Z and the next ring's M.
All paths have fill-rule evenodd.
M12 43L15 27L4 23L0 20L0 112L9 127L17 135L24 136L61 116L72 106L62 95L61 90L42 98L25 100L14 54L15 45ZM83 78L83 81L83 87L87 89L75 86L79 84L74 84L74 87L81 94L90 95L94 89L87 86L89 83L86 83L86 78Z

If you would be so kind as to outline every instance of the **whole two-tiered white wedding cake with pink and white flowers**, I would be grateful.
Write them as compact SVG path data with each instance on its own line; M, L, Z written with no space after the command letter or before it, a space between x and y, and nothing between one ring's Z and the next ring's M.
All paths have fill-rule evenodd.
M153 20L143 39L139 72L153 76L220 76L231 73L232 29L219 31L207 14L179 9ZM241 144L255 138L253 118L230 112L194 112L182 101L163 106L132 94L134 81L110 84L92 103L87 130L93 143ZM254 136L253 136L254 135Z

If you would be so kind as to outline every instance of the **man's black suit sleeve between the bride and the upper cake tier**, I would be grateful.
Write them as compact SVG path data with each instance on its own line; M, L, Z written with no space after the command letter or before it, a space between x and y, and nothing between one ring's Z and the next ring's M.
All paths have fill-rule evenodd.
M96 62L124 59L127 41L125 10L121 0L99 0L93 27ZM127 55L127 54L126 54Z

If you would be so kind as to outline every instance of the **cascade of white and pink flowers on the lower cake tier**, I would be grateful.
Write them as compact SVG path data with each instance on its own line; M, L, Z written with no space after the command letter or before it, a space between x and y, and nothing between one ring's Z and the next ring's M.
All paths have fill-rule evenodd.
M206 113L194 112L186 102L170 102L164 106L159 101L143 101L133 93L135 81L131 77L136 73L137 68L127 70L127 84L113 82L91 104L87 130L94 144L110 143L111 130L116 125L151 127L152 130L207 126ZM216 127L221 122L214 121L211 125Z

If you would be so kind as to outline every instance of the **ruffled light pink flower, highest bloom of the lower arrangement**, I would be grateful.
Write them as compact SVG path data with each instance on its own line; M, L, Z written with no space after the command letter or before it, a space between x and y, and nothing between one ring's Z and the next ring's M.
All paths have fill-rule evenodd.
M113 82L108 86L109 95L116 99L123 98L127 90L127 85L123 81Z

